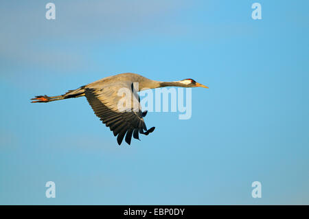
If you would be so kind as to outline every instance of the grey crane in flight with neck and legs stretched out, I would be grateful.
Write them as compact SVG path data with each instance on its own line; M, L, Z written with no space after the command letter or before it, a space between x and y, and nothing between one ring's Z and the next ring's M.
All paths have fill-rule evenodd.
M138 83L138 88L133 86ZM185 79L175 82L159 82L150 80L137 73L120 73L115 76L109 76L97 80L90 84L84 85L75 90L69 90L63 95L49 97L40 95L32 98L32 103L46 103L56 100L65 100L73 97L86 96L95 115L100 117L100 120L113 131L114 136L117 136L117 143L120 145L125 137L126 143L130 145L132 135L135 139L139 139L139 133L148 135L155 130L155 127L146 128L144 118L147 111L141 111L139 104L138 91L146 89L155 89L159 87L206 87L199 84L195 80ZM119 89L127 89L130 91L130 104L126 110L119 109L119 101L122 96L119 96ZM134 103L137 107L133 108ZM135 105L136 106L136 105Z

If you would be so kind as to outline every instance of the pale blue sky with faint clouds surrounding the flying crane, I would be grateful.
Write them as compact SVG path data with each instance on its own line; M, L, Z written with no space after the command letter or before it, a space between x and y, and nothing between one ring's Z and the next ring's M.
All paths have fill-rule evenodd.
M309 204L308 1L48 2L0 3L0 204ZM84 97L30 104L124 72L209 89L120 147Z

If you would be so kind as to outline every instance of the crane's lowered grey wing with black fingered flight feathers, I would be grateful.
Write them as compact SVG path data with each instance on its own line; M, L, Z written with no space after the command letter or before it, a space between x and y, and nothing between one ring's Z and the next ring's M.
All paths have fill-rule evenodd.
M121 90L122 89L122 90ZM122 95L126 91L126 96ZM113 131L117 136L117 142L120 145L126 135L126 143L130 145L132 135L135 139L139 139L139 133L148 135L155 130L155 127L147 130L143 117L146 113L141 112L139 97L133 88L132 82L117 82L106 84L105 87L86 87L85 96L95 115ZM130 95L129 99L128 95ZM126 102L124 108L121 103ZM119 104L120 103L120 104ZM144 132L145 130L145 132Z

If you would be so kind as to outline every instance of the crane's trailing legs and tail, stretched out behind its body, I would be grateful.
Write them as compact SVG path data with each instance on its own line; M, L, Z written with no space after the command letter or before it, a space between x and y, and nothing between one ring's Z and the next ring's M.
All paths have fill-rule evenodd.
M76 90L69 90L67 93L58 95L58 96L53 96L49 97L47 95L40 95L32 98L31 100L32 103L47 103L47 102L52 102L56 100L64 100L68 98L73 98L73 97L82 97L84 96L84 86L76 89Z

